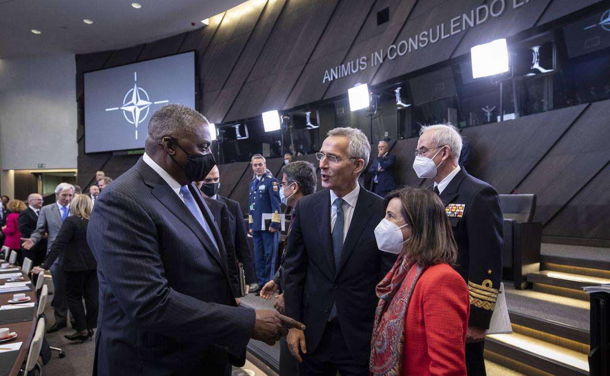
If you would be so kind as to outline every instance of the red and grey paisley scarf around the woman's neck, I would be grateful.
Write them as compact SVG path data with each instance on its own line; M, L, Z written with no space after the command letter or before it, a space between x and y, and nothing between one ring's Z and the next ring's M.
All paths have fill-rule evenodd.
M415 270L411 271L415 266ZM404 316L415 283L425 268L407 257L398 257L386 277L379 282L379 297L373 336L371 338L370 371L374 376L398 376L403 367Z

